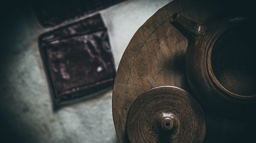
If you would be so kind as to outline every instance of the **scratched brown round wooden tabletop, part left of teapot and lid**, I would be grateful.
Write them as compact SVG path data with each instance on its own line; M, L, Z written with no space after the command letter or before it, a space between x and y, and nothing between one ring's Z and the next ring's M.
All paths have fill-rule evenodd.
M170 24L174 13L198 23L219 13L209 1L173 1L156 12L135 33L118 67L113 89L113 119L119 141L129 142L127 114L143 92L156 86L177 86L190 91L185 76L186 38Z

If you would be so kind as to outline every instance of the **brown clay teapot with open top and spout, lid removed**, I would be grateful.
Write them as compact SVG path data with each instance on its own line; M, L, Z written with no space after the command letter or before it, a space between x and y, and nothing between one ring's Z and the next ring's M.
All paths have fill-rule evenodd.
M254 116L256 49L252 20L219 15L198 24L176 13L170 22L188 39L186 77L198 101L225 117Z

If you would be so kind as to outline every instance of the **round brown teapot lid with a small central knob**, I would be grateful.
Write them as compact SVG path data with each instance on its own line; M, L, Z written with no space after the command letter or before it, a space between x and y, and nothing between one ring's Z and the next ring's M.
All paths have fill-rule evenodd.
M159 86L141 94L127 117L129 141L203 142L204 113L188 92L175 86Z

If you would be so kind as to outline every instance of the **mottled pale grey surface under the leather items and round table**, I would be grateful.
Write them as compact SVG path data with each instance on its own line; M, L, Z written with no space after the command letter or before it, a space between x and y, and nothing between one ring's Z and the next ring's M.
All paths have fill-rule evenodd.
M116 69L137 29L168 2L129 0L100 11L108 29ZM118 142L111 89L53 110L37 42L41 33L51 29L38 23L31 4L10 8L0 26L2 141Z

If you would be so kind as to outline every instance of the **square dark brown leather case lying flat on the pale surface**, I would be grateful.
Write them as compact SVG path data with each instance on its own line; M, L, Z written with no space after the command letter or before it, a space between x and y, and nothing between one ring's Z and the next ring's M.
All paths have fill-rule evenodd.
M44 33L39 46L58 104L113 85L115 64L100 14Z

